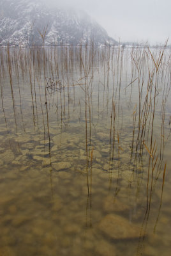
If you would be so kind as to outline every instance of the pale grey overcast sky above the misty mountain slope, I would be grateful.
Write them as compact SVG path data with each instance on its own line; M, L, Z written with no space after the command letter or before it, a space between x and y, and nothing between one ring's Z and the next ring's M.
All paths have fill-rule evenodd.
M93 17L115 40L171 44L171 0L47 0Z

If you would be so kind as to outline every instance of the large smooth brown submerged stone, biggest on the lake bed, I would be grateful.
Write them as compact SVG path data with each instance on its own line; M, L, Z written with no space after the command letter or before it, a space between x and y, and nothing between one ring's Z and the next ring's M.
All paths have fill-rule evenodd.
M116 214L108 214L98 228L110 239L133 239L140 236L140 227Z

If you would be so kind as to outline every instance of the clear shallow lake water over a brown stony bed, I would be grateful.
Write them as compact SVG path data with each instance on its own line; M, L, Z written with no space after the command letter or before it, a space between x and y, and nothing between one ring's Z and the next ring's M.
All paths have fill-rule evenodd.
M141 50L115 49L110 62L108 49L96 50L93 58L88 49L87 59L83 49L82 61L80 49L35 52L30 61L32 49L11 50L10 84L9 55L1 51L0 253L169 255L170 94L165 129L161 126L161 102L170 84L169 52L158 75L153 162L148 125L144 150L139 145L136 150L138 79L131 82L137 76L140 84L149 81L145 64L137 74L132 61ZM47 54L44 66L38 61L43 54ZM144 58L138 63L149 61L152 73L154 63ZM45 90L44 75L54 77L51 89ZM59 90L59 83L53 87L59 79L64 90ZM144 86L142 102L145 90ZM147 120L150 127L151 120ZM167 141L164 149L163 138Z

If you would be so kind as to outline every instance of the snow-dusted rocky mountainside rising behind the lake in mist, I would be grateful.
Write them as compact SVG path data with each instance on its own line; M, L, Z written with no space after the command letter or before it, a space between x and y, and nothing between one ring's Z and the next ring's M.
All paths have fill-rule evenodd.
M36 0L1 0L1 46L42 45L43 41L45 45L117 44L84 12L52 8Z

